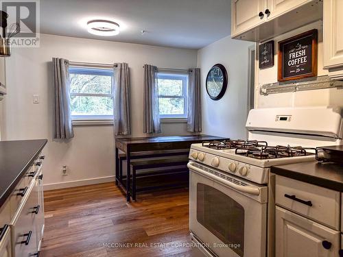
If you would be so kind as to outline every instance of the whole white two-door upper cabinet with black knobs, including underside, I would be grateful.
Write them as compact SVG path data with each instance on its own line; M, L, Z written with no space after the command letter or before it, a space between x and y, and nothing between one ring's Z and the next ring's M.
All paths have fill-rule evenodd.
M322 0L231 0L231 38L263 42L320 19Z

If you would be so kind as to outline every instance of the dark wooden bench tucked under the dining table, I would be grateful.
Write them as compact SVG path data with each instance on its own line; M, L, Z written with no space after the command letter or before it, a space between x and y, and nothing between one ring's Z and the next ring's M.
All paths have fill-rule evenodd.
M187 162L188 162L188 155L150 158L148 160L139 160L139 159L132 160L131 169L130 171L128 171L128 174L126 175L127 198L130 199L130 196L131 196L132 201L136 201L137 191L138 192L147 191L147 190L152 190L156 188L166 187L165 185L148 186L148 187L139 188L137 190L137 178L139 177L167 175L167 174L170 175L170 174L177 174L177 173L187 173L187 176L188 176ZM166 168L166 169L163 169L161 171L147 171L147 172L137 174L137 171L139 170L156 169L156 168ZM132 174L131 174L131 171L132 171ZM131 175L132 175L132 183L131 183ZM180 185L178 184L167 185L167 187L178 187L178 186Z

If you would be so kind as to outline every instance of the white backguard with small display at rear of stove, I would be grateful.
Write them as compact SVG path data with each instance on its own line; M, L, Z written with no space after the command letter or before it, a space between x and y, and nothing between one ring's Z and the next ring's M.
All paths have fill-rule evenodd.
M246 121L248 131L283 132L342 138L342 108L260 108L252 109Z

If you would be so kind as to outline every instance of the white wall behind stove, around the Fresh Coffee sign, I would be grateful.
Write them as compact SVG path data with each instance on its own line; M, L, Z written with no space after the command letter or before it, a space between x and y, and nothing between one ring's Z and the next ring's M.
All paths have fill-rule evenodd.
M322 21L311 23L304 27L300 27L292 32L283 34L274 38L275 41L275 65L268 69L257 69L258 75L255 76L255 108L270 108L270 107L300 107L300 106L343 106L343 90L337 88L309 90L296 93L279 93L274 95L263 96L259 95L259 88L263 84L277 82L277 43L286 38L296 36L310 29L318 29L318 76L327 75L328 71L324 70L322 53ZM268 40L269 41L269 40ZM256 62L258 66L258 62Z

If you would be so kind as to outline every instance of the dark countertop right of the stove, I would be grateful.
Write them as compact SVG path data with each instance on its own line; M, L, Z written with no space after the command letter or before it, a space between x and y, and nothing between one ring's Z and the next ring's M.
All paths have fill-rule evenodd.
M330 162L299 162L272 166L270 172L294 180L343 191L343 165Z

